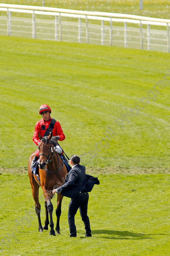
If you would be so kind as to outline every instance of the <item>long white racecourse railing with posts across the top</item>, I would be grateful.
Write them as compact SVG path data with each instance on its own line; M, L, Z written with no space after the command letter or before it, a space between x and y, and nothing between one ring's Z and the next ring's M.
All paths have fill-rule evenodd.
M10 5L10 4L0 4L0 11L7 13L7 34L11 35L15 31L15 27L23 27L20 25L14 25L12 22L20 22L21 19L26 19L28 22L30 22L29 18L16 18L12 17L12 12L20 12L20 13L30 13L32 14L32 38L36 38L37 35L40 34L46 34L46 35L54 35L54 39L51 37L49 38L43 38L43 39L49 39L49 40L60 40L60 41L70 41L68 38L70 37L77 37L77 41L80 42L92 42L94 41L98 42L100 40L100 43L102 45L104 44L110 44L113 45L113 43L116 45L117 43L124 42L124 47L129 47L129 45L140 44L141 49L152 49L157 47L156 49L159 49L160 51L170 52L170 35L169 35L169 26L170 26L170 20L167 19L158 19L158 18L151 18L151 17L142 17L142 16L136 16L136 15L129 15L129 14L119 14L119 13L109 13L109 12L89 12L89 11L78 11L78 10L68 10L68 9L59 9L59 8L51 8L51 7L40 7L40 6L29 6L29 5ZM37 26L37 23L41 22L41 19L37 19L37 15L43 15L43 16L50 16L54 17L54 20L43 20L44 23L46 21L47 23L50 23L51 27L45 27L44 29L42 27ZM0 17L3 20L3 17ZM70 21L63 21L62 18L77 18L76 22L70 22ZM5 19L5 17L4 17ZM100 20L101 26L100 26L100 33L95 32L95 30L99 29L97 25L92 25L89 23L89 20ZM82 22L84 21L84 22ZM105 26L104 22L109 22L109 26ZM124 27L116 27L113 26L114 23L124 23ZM54 29L52 29L53 25ZM127 26L127 23L133 23L137 24L137 26L140 26L140 28L130 28ZM65 29L64 26L74 26L74 28L71 29ZM147 29L142 28L142 25L147 25ZM166 30L151 30L150 25L155 26L163 26L166 27ZM5 24L3 23L3 26ZM77 30L75 27L77 26ZM99 26L99 25L98 25ZM12 27L14 29L12 29ZM30 25L25 26L25 30L29 28ZM47 33L47 32L38 32L39 30L53 30L53 33ZM123 29L123 34L122 33ZM36 31L37 30L37 31ZM0 33L1 31L5 31L4 27L1 29L0 26ZM18 31L18 30L17 30ZM67 34L64 34L64 32ZM72 31L72 32L71 32ZM76 31L76 36L71 35L73 32ZM93 32L92 32L93 31ZM115 32L116 31L116 32ZM117 32L118 31L118 32ZM16 31L15 31L16 32ZM27 31L22 31L23 33L26 33ZM30 31L29 31L30 33ZM137 35L137 34L140 34ZM160 34L160 36L158 36ZM84 36L83 36L84 35ZM92 35L94 35L97 38L93 38ZM146 36L144 36L146 35ZM67 36L67 40L63 39ZM100 36L100 39L99 39ZM123 38L122 38L123 37ZM41 37L39 37L41 38ZM107 39L106 39L107 38ZM140 39L140 41L138 40ZM154 42L151 42L154 41ZM161 41L161 42L160 42ZM154 48L154 49L155 49Z

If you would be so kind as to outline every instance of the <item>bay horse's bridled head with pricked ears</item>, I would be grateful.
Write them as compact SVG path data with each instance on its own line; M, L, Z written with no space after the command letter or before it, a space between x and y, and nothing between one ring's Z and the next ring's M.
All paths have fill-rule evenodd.
M40 143L38 145L38 149L39 149L38 165L40 169L45 169L45 166L48 163L51 154L53 154L54 149L50 142L52 136L53 136L53 132L51 132L48 137L42 137L41 134L38 133L38 137L40 140Z

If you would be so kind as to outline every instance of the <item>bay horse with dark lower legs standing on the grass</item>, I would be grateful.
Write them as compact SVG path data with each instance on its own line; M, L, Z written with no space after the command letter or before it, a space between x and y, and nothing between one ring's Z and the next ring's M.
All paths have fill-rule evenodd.
M56 233L54 231L54 223L53 223L53 204L51 203L51 199L53 198L52 190L54 188L60 187L67 175L67 169L64 165L64 162L60 155L54 150L54 146L57 144L56 136L53 137L53 132L49 134L47 137L42 137L40 133L38 134L40 143L38 145L39 149L39 171L38 176L40 179L37 179L37 176L32 173L32 159L35 156L36 151L32 153L28 162L28 174L29 181L31 183L32 188L32 196L35 201L35 209L36 214L38 216L39 223L39 232L43 232L43 229L48 230L48 224L50 226L49 235L55 236L56 233L60 234L60 215L61 215L61 203L63 200L63 196L59 193L57 194L57 208L56 208ZM45 225L42 227L40 212L41 205L39 203L39 187L42 187L43 195L45 197L45 209L46 209L46 219ZM50 222L49 222L50 218Z

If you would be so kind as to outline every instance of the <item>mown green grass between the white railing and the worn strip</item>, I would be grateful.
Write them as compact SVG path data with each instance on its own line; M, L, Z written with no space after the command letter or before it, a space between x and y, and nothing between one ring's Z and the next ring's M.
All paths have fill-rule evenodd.
M130 123L124 120L123 130L115 121L163 79L168 53L7 36L0 51L0 167L26 168L46 103L66 135L60 145L68 156L94 150L108 127L117 133L109 148L98 146L88 167L167 168L168 83Z

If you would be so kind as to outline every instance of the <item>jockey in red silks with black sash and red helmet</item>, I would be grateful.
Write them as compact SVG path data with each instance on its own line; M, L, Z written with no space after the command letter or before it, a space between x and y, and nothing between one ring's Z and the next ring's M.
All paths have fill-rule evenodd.
M52 131L53 131L53 136L57 136L58 140L60 140L60 141L64 140L65 135L63 133L60 123L50 117L51 108L48 105L43 104L39 108L39 114L42 116L42 119L39 122L37 122L35 125L34 135L32 137L33 142L37 146L39 145L40 140L38 137L38 132L41 134L42 137L44 137L44 136L48 136ZM60 148L60 146L56 146L55 150L58 154L63 153L63 150ZM38 158L39 158L39 150L36 152L36 155L34 156L34 158L32 160L32 164L31 164L32 167L34 166L34 164L36 163Z

